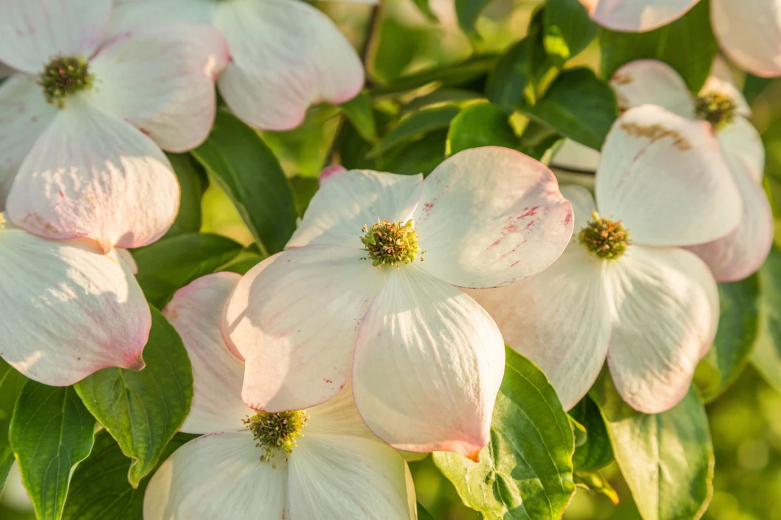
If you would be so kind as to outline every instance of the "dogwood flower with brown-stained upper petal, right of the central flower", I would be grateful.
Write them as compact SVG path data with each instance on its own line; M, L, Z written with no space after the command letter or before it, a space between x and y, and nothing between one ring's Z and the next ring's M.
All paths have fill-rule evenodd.
M576 232L545 271L468 291L512 348L537 363L572 408L604 360L640 412L675 405L711 347L719 292L708 266L680 246L726 235L741 200L710 125L663 108L631 108L604 143L597 202L563 186Z

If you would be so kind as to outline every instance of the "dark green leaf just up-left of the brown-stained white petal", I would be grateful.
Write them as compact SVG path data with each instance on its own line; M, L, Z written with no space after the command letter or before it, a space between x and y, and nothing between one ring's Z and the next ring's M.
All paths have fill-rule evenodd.
M525 113L596 150L618 117L612 88L585 68L565 70Z

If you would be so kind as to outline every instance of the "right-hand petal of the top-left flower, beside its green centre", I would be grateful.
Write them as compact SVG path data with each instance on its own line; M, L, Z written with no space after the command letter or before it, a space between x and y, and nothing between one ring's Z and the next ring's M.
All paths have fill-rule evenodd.
M152 137L164 150L197 147L216 111L214 81L228 48L214 27L173 25L113 38L91 61L91 101Z

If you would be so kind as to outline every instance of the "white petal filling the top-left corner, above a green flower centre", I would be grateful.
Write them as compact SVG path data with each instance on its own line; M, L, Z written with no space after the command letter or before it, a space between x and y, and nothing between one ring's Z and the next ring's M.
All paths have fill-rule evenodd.
M5 0L0 17L0 60L41 73L56 55L89 58L105 33L111 0Z

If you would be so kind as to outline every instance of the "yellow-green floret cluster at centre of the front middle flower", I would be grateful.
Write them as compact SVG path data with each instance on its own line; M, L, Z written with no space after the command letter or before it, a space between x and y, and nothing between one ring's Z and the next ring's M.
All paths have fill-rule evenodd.
M375 267L383 264L396 267L399 264L410 264L415 260L416 255L426 253L426 251L420 252L418 233L415 232L412 220L403 224L401 221L391 223L380 221L378 218L377 223L372 227L363 226L363 232L366 233L361 238L363 250L369 253L366 260L372 260L372 265ZM423 261L423 256L420 260Z

